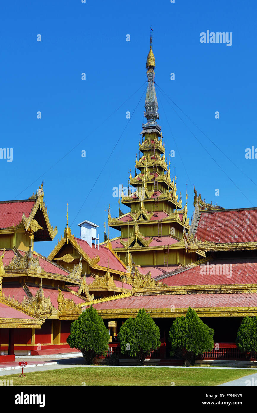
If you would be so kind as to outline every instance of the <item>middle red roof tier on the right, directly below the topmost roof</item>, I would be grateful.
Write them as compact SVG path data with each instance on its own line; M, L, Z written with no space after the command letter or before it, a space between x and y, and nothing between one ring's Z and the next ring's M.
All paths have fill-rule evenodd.
M210 261L207 266L196 266L167 275L161 281L170 286L257 284L257 258L217 259Z

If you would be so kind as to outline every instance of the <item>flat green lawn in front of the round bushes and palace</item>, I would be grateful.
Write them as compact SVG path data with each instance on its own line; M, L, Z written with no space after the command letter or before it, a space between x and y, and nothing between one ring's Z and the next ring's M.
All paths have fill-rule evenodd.
M13 385L45 386L215 386L251 374L251 370L200 368L74 367L1 376ZM173 384L174 383L174 384Z

